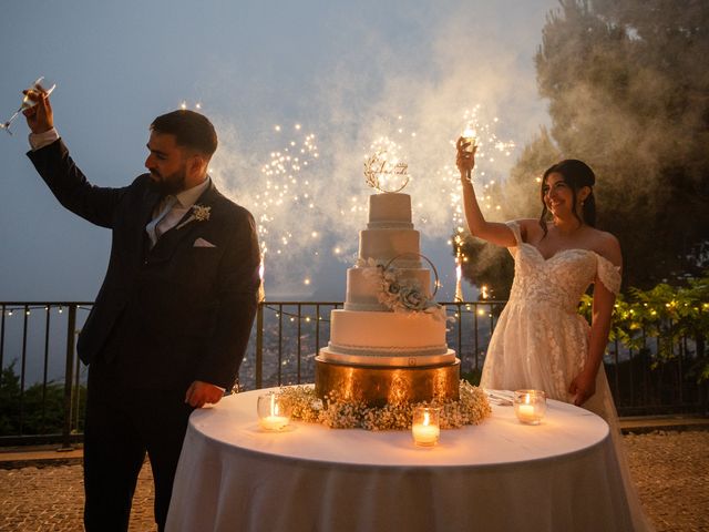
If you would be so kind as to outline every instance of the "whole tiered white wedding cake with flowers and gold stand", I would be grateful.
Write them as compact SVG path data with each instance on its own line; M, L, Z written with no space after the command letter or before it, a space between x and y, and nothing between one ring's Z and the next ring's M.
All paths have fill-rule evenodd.
M459 368L445 342L445 309L431 299L411 197L374 194L345 308L331 311L330 341L316 357L316 391L373 406L458 399Z

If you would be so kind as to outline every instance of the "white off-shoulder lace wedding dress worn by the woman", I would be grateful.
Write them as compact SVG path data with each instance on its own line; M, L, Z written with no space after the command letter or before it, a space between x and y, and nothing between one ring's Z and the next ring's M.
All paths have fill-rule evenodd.
M568 387L584 367L590 329L577 311L578 301L594 282L617 294L620 274L613 263L589 249L564 249L545 259L536 247L522 242L516 222L507 225L517 241L510 248L515 260L514 282L490 340L480 385L496 390L544 390L549 399L572 402ZM653 530L630 479L603 364L596 393L584 408L610 427L635 530Z

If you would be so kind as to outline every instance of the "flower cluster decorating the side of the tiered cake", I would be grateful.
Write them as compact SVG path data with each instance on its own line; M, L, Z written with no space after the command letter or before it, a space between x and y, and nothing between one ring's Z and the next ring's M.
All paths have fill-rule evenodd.
M360 259L358 267L367 267L364 276L378 285L377 299L394 313L427 313L445 320L445 309L423 290L417 279L404 278L401 269L390 262L378 264L373 258Z

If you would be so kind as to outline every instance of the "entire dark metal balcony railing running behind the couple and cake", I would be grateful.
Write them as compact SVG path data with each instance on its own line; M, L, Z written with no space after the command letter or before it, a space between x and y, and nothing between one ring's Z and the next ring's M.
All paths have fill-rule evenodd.
M330 310L340 301L267 301L238 376L238 388L256 389L314 380L315 356L329 339ZM480 378L487 344L505 301L445 303L448 342L461 374ZM75 338L91 303L0 303L0 446L61 441L70 448L83 432L86 368ZM658 357L662 338L641 348L610 342L604 358L620 415L707 413L709 386L698 382L695 340L682 337L672 357Z

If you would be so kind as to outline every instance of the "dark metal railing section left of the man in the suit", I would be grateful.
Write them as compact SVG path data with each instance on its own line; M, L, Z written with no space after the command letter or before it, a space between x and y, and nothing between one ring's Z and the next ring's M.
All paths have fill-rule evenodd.
M92 305L0 304L0 444L81 440L86 368L75 339Z

